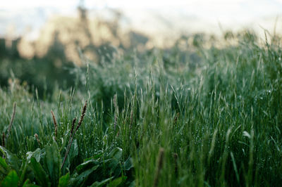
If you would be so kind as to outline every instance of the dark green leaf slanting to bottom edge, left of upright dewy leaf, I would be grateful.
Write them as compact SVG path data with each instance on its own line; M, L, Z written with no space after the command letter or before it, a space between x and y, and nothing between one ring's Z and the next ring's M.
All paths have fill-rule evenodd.
M39 162L35 160L34 157L30 159L30 167L35 174L35 180L39 186L50 186L48 175L44 172L44 169Z

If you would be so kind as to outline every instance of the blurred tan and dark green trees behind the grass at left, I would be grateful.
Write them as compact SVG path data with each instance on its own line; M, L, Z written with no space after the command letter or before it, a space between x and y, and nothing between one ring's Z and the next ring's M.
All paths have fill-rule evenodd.
M78 7L78 13L78 18L52 18L36 41L1 38L0 84L7 86L8 78L14 76L36 87L40 98L47 98L54 86L66 89L75 84L71 70L81 66L82 61L110 63L116 53L132 51L140 45L145 49L148 38L143 34L120 34L119 11L109 10L114 17L111 21L90 20L83 6Z

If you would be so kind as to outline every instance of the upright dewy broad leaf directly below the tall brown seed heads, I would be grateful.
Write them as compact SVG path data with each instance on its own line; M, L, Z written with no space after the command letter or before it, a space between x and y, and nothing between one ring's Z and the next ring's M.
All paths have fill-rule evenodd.
M61 155L56 142L51 146L45 146L45 151L46 155L44 162L51 179L51 186L58 186L61 174Z

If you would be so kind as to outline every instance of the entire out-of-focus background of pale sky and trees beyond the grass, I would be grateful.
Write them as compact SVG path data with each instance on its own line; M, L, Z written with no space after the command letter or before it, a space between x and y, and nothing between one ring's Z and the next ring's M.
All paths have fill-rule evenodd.
M73 68L85 61L101 65L155 50L197 63L195 39L281 33L281 10L282 0L1 1L0 84L16 77L43 96L75 84Z

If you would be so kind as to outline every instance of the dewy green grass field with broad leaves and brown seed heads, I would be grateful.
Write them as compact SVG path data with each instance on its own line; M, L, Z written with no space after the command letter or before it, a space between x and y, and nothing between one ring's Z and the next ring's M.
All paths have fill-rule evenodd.
M45 98L11 77L1 186L280 186L280 41L196 35L85 61L71 88Z

